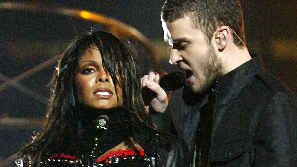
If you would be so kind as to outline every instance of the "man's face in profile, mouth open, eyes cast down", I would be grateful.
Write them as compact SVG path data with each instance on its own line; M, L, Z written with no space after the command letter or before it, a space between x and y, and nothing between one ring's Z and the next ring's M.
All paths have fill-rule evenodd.
M166 22L163 29L168 37L165 40L171 45L170 63L178 64L186 72L191 89L202 93L220 75L222 64L202 30L192 25L190 17L185 15Z

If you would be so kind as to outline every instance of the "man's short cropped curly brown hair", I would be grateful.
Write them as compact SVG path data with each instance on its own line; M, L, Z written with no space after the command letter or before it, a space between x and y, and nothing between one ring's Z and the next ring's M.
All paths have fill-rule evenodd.
M189 15L195 28L200 27L209 41L219 26L229 26L244 41L244 21L238 0L166 0L161 11L162 22L173 22ZM237 46L244 44L237 37Z

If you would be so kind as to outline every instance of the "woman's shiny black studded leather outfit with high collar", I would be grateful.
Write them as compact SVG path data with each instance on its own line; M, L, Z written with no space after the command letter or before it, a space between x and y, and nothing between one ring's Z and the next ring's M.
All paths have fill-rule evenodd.
M123 121L127 119L119 113L111 116L109 120L107 130L96 130L94 123L84 124L86 133L80 148L82 157L49 158L49 156L40 162L40 167L187 167L190 165L187 145L176 136L151 129L139 129L132 122ZM120 155L96 162L102 154L130 137L143 148L145 155ZM65 152L62 149L59 151L57 154L65 153L73 156L71 151ZM28 165L28 156L24 157L23 163L24 166Z

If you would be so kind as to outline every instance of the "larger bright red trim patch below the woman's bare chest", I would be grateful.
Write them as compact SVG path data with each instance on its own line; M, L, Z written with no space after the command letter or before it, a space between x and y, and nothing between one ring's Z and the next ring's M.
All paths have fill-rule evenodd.
M137 147L137 150L140 153L140 155L145 155L143 149ZM129 148L126 148L125 150L123 149L112 150L106 153L105 155L102 155L101 157L99 157L96 162L101 162L103 160L106 160L108 157L113 157L114 155L121 156L123 154L136 155L136 152L133 149L129 149Z

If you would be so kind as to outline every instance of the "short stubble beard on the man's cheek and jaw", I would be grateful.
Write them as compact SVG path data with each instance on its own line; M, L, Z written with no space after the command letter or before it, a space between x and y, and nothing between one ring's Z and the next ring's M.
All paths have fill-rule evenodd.
M191 86L192 91L196 93L205 93L212 83L222 75L222 61L217 57L211 45L208 45L208 51L201 68L204 78L198 77L198 82Z

